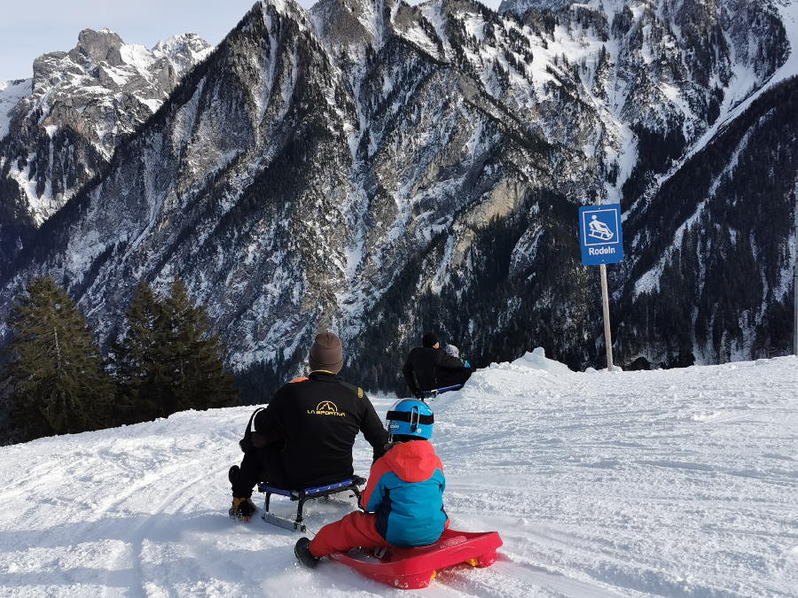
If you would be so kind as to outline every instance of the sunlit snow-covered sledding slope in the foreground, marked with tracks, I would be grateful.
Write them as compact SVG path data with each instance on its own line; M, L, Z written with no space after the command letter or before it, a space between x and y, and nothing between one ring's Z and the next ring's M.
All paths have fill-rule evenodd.
M477 372L434 401L434 444L452 524L505 545L418 594L301 570L297 536L230 522L249 408L3 447L0 595L795 595L796 396L794 357L575 373L539 349Z

